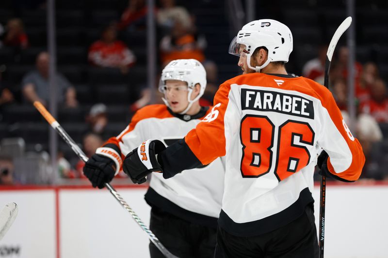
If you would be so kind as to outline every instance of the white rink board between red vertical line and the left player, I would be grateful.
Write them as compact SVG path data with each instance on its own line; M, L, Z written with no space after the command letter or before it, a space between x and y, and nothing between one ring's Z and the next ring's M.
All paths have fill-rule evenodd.
M116 189L149 225L146 188ZM60 193L61 258L149 258L148 235L106 189Z

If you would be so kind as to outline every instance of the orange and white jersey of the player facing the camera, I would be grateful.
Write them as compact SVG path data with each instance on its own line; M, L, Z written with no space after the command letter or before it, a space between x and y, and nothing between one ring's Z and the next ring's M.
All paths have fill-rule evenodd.
M169 146L195 128L210 110L202 107L198 114L189 116L175 114L165 105L145 106L120 135L104 146L121 152L122 159L144 139L160 139ZM209 166L192 170L168 180L161 173L153 173L146 201L183 219L215 228L224 191L225 160L217 158Z

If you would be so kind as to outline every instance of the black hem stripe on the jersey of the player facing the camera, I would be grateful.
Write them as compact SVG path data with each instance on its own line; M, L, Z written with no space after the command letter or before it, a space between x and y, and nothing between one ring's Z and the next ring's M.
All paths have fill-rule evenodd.
M185 210L169 199L162 197L151 187L148 188L144 198L151 207L158 207L180 219L210 228L217 228L217 218Z

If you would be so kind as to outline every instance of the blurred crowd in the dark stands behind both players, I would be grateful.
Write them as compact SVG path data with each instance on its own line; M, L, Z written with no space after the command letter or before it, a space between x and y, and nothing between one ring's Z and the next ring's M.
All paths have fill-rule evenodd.
M18 7L23 10L37 10L38 13L45 11L45 1L32 2L36 4ZM7 145L2 139L24 138L22 144L19 140L14 141L23 153L24 151L26 153L48 151L48 137L38 137L39 133L34 134L34 130L39 131L42 128L44 129L39 132L47 134L46 127L48 125L45 121L39 119L39 116L34 113L25 118L25 124L17 121L17 119L23 118L23 114L25 114L23 110L33 109L33 101L37 100L48 106L50 100L48 90L49 53L45 49L46 45L36 44L36 42L39 42L36 39L30 40L30 35L32 37L33 35L29 35L29 30L26 30L26 27L35 25L33 25L33 22L25 23L23 21L23 12L20 12L20 8L15 10L11 8L9 12L12 17L5 22L2 21L2 24L0 23L1 184L28 183L17 176L13 179L12 174L20 169L20 166L17 165L17 168L15 164L15 157L12 155L14 152L5 151L7 146L12 144ZM64 42L66 42L66 39L70 43L75 41L76 46L87 49L85 55L78 55L83 59L81 60L82 65L78 69L82 68L86 72L77 73L77 67L64 69L64 72L59 69L57 72L55 76L56 96L60 119L62 119L59 122L65 121L69 124L68 127L63 127L65 130L69 129L69 132L74 132L73 135L69 133L70 136L76 139L88 157L106 139L118 135L121 130L124 130L130 117L137 109L150 104L152 89L154 89L157 96L156 102L162 103L157 85L161 69L169 61L194 58L204 64L207 71L208 86L201 99L202 105L212 104L214 93L219 84L222 83L222 81L219 81L218 76L220 63L207 58L206 55L207 50L212 51L214 46L207 43L206 37L208 35L205 36L205 33L196 27L195 14L189 12L185 6L177 4L175 0L159 0L153 10L157 22L157 40L159 42L159 51L156 57L159 65L158 75L156 75L158 81L155 81L155 85L149 87L146 80L146 38L144 37L147 12L148 8L145 0L129 0L116 16L96 16L96 24L99 25L99 28L95 30L96 33L92 34L95 36L92 41L81 42L76 38L64 39ZM109 12L104 14L109 14ZM287 24L287 21L284 22ZM77 24L74 27L77 27ZM42 28L45 30L46 27L40 26L38 29ZM143 37L139 40L138 35ZM60 39L57 39L57 41L60 41ZM137 41L138 43L136 43ZM59 44L62 44L62 42L59 42ZM60 48L66 50L66 43L63 44L64 46ZM39 51L34 53L32 49L38 49ZM73 48L69 46L69 49ZM72 51L77 52L77 49L75 48ZM300 67L299 75L323 84L326 51L327 46L320 46L316 58L307 61L303 67ZM34 53L34 65L31 61L32 53ZM227 55L227 49L222 53L222 55ZM28 60L26 56L30 57L29 62L26 62ZM62 64L62 60L65 60L66 55L64 56L61 59L61 56L58 55L59 65ZM360 140L367 158L362 178L387 180L387 84L381 78L376 63L356 61L354 64L356 70L356 98L349 100L347 94L348 56L349 50L345 46L339 46L336 50L335 59L331 64L330 90L347 124L352 124L349 121L348 103L352 102L356 106L356 121L352 124L352 128L354 134ZM79 61L79 59L76 59L73 63ZM236 59L236 71L230 77L238 75L237 61ZM26 66L26 63L29 65ZM69 66L71 64L72 62ZM72 120L75 121L73 125ZM33 140L41 140L42 142L36 143ZM83 162L78 160L64 144L59 146L59 176L68 179L84 178L82 175ZM17 153L17 157L26 155L25 153ZM43 159L48 161L45 157L46 155L43 155ZM123 173L120 173L119 176L125 177Z

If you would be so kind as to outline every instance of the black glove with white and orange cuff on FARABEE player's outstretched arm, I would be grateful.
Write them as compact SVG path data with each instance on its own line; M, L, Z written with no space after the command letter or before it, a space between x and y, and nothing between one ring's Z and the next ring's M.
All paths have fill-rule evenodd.
M134 183L146 182L146 176L151 172L163 172L162 166L158 163L157 154L165 149L160 140L146 140L125 157L124 172Z

